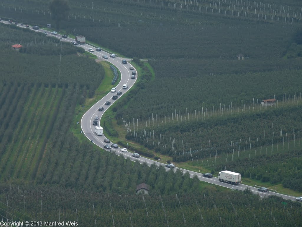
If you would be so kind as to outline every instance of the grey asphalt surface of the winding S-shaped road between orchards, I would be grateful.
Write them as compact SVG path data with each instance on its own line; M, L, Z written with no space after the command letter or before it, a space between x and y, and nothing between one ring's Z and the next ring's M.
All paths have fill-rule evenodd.
M1 22L9 24L8 21L1 21ZM25 28L25 25L21 26L20 24L18 24L18 26ZM47 36L54 36L56 38L59 38L61 41L67 41L67 42L75 41L74 39L69 38L69 37L67 37L67 38L61 38L62 34L53 35L53 34L51 34L50 31L46 31L46 30L43 30L43 29L34 30L34 29L32 29L32 26L30 26L29 28L31 30L33 30L33 31L36 31L36 32L44 32L44 33L46 33ZM131 64L129 64L129 63L122 64L122 59L124 59L124 58L119 58L119 57L111 58L111 57L109 57L110 53L108 53L108 52L106 52L104 50L102 50L102 51L95 51L95 47L90 46L88 44L83 44L83 45L78 44L77 47L81 47L81 48L85 49L86 51L88 51L89 48L92 48L92 49L94 49L94 52L91 52L91 53L95 54L99 58L102 58L103 55L107 55L108 56L108 59L103 59L103 58L102 59L105 60L105 61L108 61L108 62L110 62L112 64L114 64L114 66L117 67L118 70L120 70L121 75L122 75L121 78L118 78L118 79L120 79L120 82L117 84L117 82L118 82L117 81L116 82L117 85L113 85L112 86L112 87L116 87L116 92L117 91L121 91L122 95L124 95L133 86L133 84L137 81L137 77L139 75L136 74L135 79L131 79L131 75L132 75L132 71L133 70L129 69L129 67L131 66ZM126 58L126 60L128 61L129 59ZM135 68L134 68L134 70L135 70ZM123 84L127 84L128 88L127 89L122 89ZM83 115L83 117L81 119L82 132L85 134L85 136L88 138L88 140L93 141L93 143L95 143L95 145L99 146L101 149L103 149L104 144L110 145L110 144L112 144L112 142L111 143L104 143L104 139L106 138L105 135L97 136L94 133L94 127L95 126L92 125L92 121L94 120L94 116L98 115L98 117L99 117L98 126L99 126L100 119L103 116L104 112L108 108L111 108L112 104L115 101L117 101L120 98L120 96L122 96L122 95L118 95L117 100L112 100L112 96L115 95L116 92L113 93L113 92L111 92L109 90L108 94L105 97L103 97L101 100L98 100L88 110L85 110L85 113L84 113L84 115ZM110 101L111 104L109 106L105 105L106 101ZM99 107L104 107L104 110L103 111L98 111ZM113 143L115 143L115 142L113 141ZM159 166L159 165L165 166L165 164L163 164L163 163L160 163L160 162L158 162L156 160L151 160L151 159L148 159L148 158L145 158L145 157L142 157L142 156L140 156L139 158L135 158L135 157L131 156L131 154L132 154L131 151L121 152L120 151L120 147L115 148L115 149L111 148L110 150L109 149L104 149L104 150L106 150L108 152L111 152L111 153L114 153L114 154L119 155L119 156L123 155L124 158L130 158L132 161L139 161L140 163L146 162L149 166L152 165L153 163L155 163L157 166ZM176 171L177 169L181 169L181 168L178 168L178 167L173 168L174 171ZM166 167L166 170L169 171L170 169ZM203 177L202 173L198 173L198 172L194 172L194 171L190 171L190 170L186 170L186 169L181 169L181 170L184 173L188 171L191 178L193 178L194 175L196 175L198 177L198 179L201 180L201 181L204 181L204 182L207 182L207 183L210 183L210 184L219 185L219 186L222 186L222 187L226 187L226 188L229 188L229 189L232 189L232 190L243 191L243 190L249 188L251 190L251 192L253 192L255 194L258 194L259 196L261 196L263 198L271 196L271 195L275 195L275 196L280 196L280 197L282 197L284 199L296 201L296 197L294 197L294 196L288 196L288 195L284 195L284 194L280 194L280 193L272 192L272 191L269 191L269 192L259 192L257 187L247 186L247 185L244 185L242 183L238 184L238 185L231 185L231 184L228 184L228 183L220 182L218 180L218 178L216 178L216 177L207 178L207 177Z

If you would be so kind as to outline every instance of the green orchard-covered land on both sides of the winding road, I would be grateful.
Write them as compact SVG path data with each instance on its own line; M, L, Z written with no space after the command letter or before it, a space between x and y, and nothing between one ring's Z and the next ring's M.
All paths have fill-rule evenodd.
M106 111L105 135L163 163L214 176L229 169L242 173L248 185L298 195L300 2L69 3L61 33L84 35L103 49L134 58L138 81ZM52 23L56 30L48 5L3 0L0 16L40 27ZM23 45L19 52L11 48L16 43ZM104 152L86 140L76 121L111 87L111 74L106 63L83 52L43 33L0 23L3 220L301 225L300 202L209 185L189 173ZM261 107L268 98L277 103ZM143 182L148 196L136 195Z

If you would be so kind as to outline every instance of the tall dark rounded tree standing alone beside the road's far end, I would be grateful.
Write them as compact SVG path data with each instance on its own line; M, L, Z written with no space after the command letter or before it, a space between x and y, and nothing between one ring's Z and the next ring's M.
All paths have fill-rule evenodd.
M51 12L51 18L56 21L56 29L60 30L60 22L68 17L69 14L69 3L67 0L53 0L49 9Z

